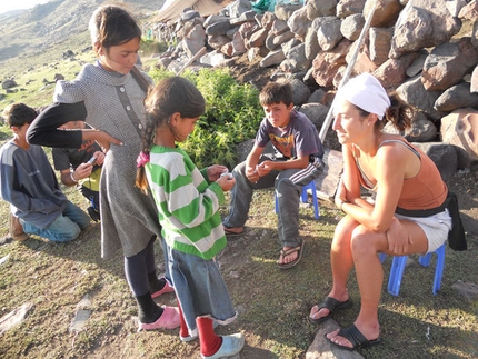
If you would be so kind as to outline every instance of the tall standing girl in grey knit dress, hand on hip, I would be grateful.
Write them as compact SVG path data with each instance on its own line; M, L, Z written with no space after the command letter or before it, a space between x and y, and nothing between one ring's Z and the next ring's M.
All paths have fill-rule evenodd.
M135 187L146 92L130 71L137 62L141 29L125 9L111 4L93 12L89 29L97 62L86 64L72 81L58 81L53 101L84 106L86 122L92 129L59 129L76 119L57 111L53 104L32 123L28 139L60 148L79 148L87 140L101 144L107 152L100 180L101 255L111 258L122 250L141 329L177 328L178 308L160 307L153 300L173 291L156 275L153 241L161 233L158 211L152 197Z

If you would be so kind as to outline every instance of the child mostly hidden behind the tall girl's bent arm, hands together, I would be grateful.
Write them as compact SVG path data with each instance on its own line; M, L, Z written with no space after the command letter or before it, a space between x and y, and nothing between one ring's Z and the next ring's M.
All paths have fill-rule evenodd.
M78 130L90 128L84 119L87 109L83 102L53 103L51 111L59 118L74 119L59 128L63 130ZM40 114L41 116L41 114ZM88 213L94 221L100 220L100 177L104 153L93 140L87 140L80 148L53 148L53 166L61 173L64 186L77 186L78 190L88 199L90 207Z

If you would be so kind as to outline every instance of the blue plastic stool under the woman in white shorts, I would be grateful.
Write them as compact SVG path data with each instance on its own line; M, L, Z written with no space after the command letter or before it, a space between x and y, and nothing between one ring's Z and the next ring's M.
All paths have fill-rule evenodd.
M441 287L441 277L444 276L445 269L445 243L438 248L435 252L427 253L425 256L418 257L418 262L424 266L430 266L431 255L437 255L437 263L435 268L435 278L434 278L434 287L432 292L434 296L437 295L437 291L440 290ZM379 253L380 262L385 261L387 255ZM405 265L407 263L408 256L396 256L391 262L390 268L390 277L388 278L388 292L392 296L398 296L400 291L401 277L404 276Z

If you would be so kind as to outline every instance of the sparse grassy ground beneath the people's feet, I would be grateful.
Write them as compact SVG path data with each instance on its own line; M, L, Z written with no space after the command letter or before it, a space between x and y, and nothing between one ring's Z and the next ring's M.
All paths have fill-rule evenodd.
M7 137L3 133L3 138ZM86 207L72 189L73 201ZM239 312L238 320L219 333L242 331L243 359L305 358L316 328L307 320L310 308L331 285L329 248L341 213L321 202L321 218L301 208L306 252L300 265L277 269L280 250L271 191L255 193L246 236L230 241L220 257L223 277ZM0 203L0 235L7 235L8 206ZM225 210L225 209L223 209ZM467 302L451 286L476 281L476 237L469 250L447 250L442 289L431 293L431 268L407 268L399 297L384 290L379 309L382 343L364 350L367 358L476 358L478 303ZM159 272L162 256L157 249ZM122 258L100 258L100 226L93 223L71 243L40 238L0 246L0 317L30 303L24 320L0 333L1 358L198 358L197 342L182 343L178 331L137 332L137 308L125 280ZM0 260L1 261L1 260ZM385 262L386 278L390 259ZM359 302L353 273L349 287ZM81 300L87 300L81 305ZM158 302L173 305L172 293ZM349 325L358 305L335 319ZM79 309L91 310L80 330L70 330Z

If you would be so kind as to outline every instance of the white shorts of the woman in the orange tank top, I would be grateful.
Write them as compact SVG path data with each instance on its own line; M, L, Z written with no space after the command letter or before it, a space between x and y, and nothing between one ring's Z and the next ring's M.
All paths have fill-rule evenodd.
M409 220L417 223L424 230L428 239L428 251L434 252L448 239L451 230L451 217L446 208L445 211L430 217L409 217L395 213L397 219Z

